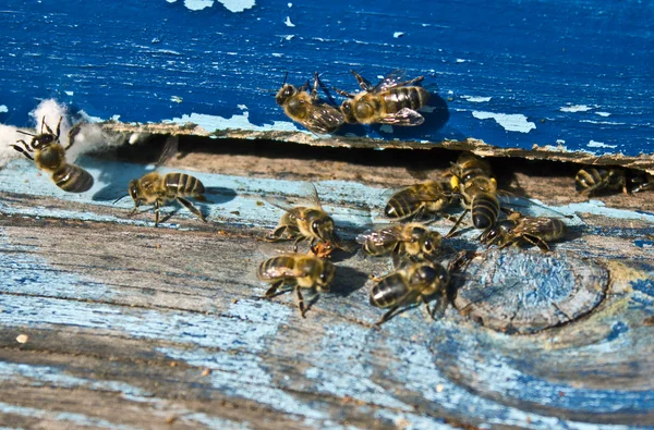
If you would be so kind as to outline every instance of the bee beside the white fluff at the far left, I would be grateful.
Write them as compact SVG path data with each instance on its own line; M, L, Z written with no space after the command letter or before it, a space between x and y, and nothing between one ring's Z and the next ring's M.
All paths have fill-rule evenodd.
M59 142L61 133L61 120L57 123L57 128L53 132L46 124L46 116L41 119L41 131L39 134L31 134L19 131L19 133L32 136L32 142L27 144L25 140L17 140L19 145L11 145L12 148L34 161L39 170L48 172L55 182L55 185L69 193L84 193L93 186L93 176L86 170L78 165L68 163L65 161L65 151L73 145L76 128L71 128L69 134L69 144L64 148ZM45 131L44 131L45 128ZM34 156L33 156L34 155Z

